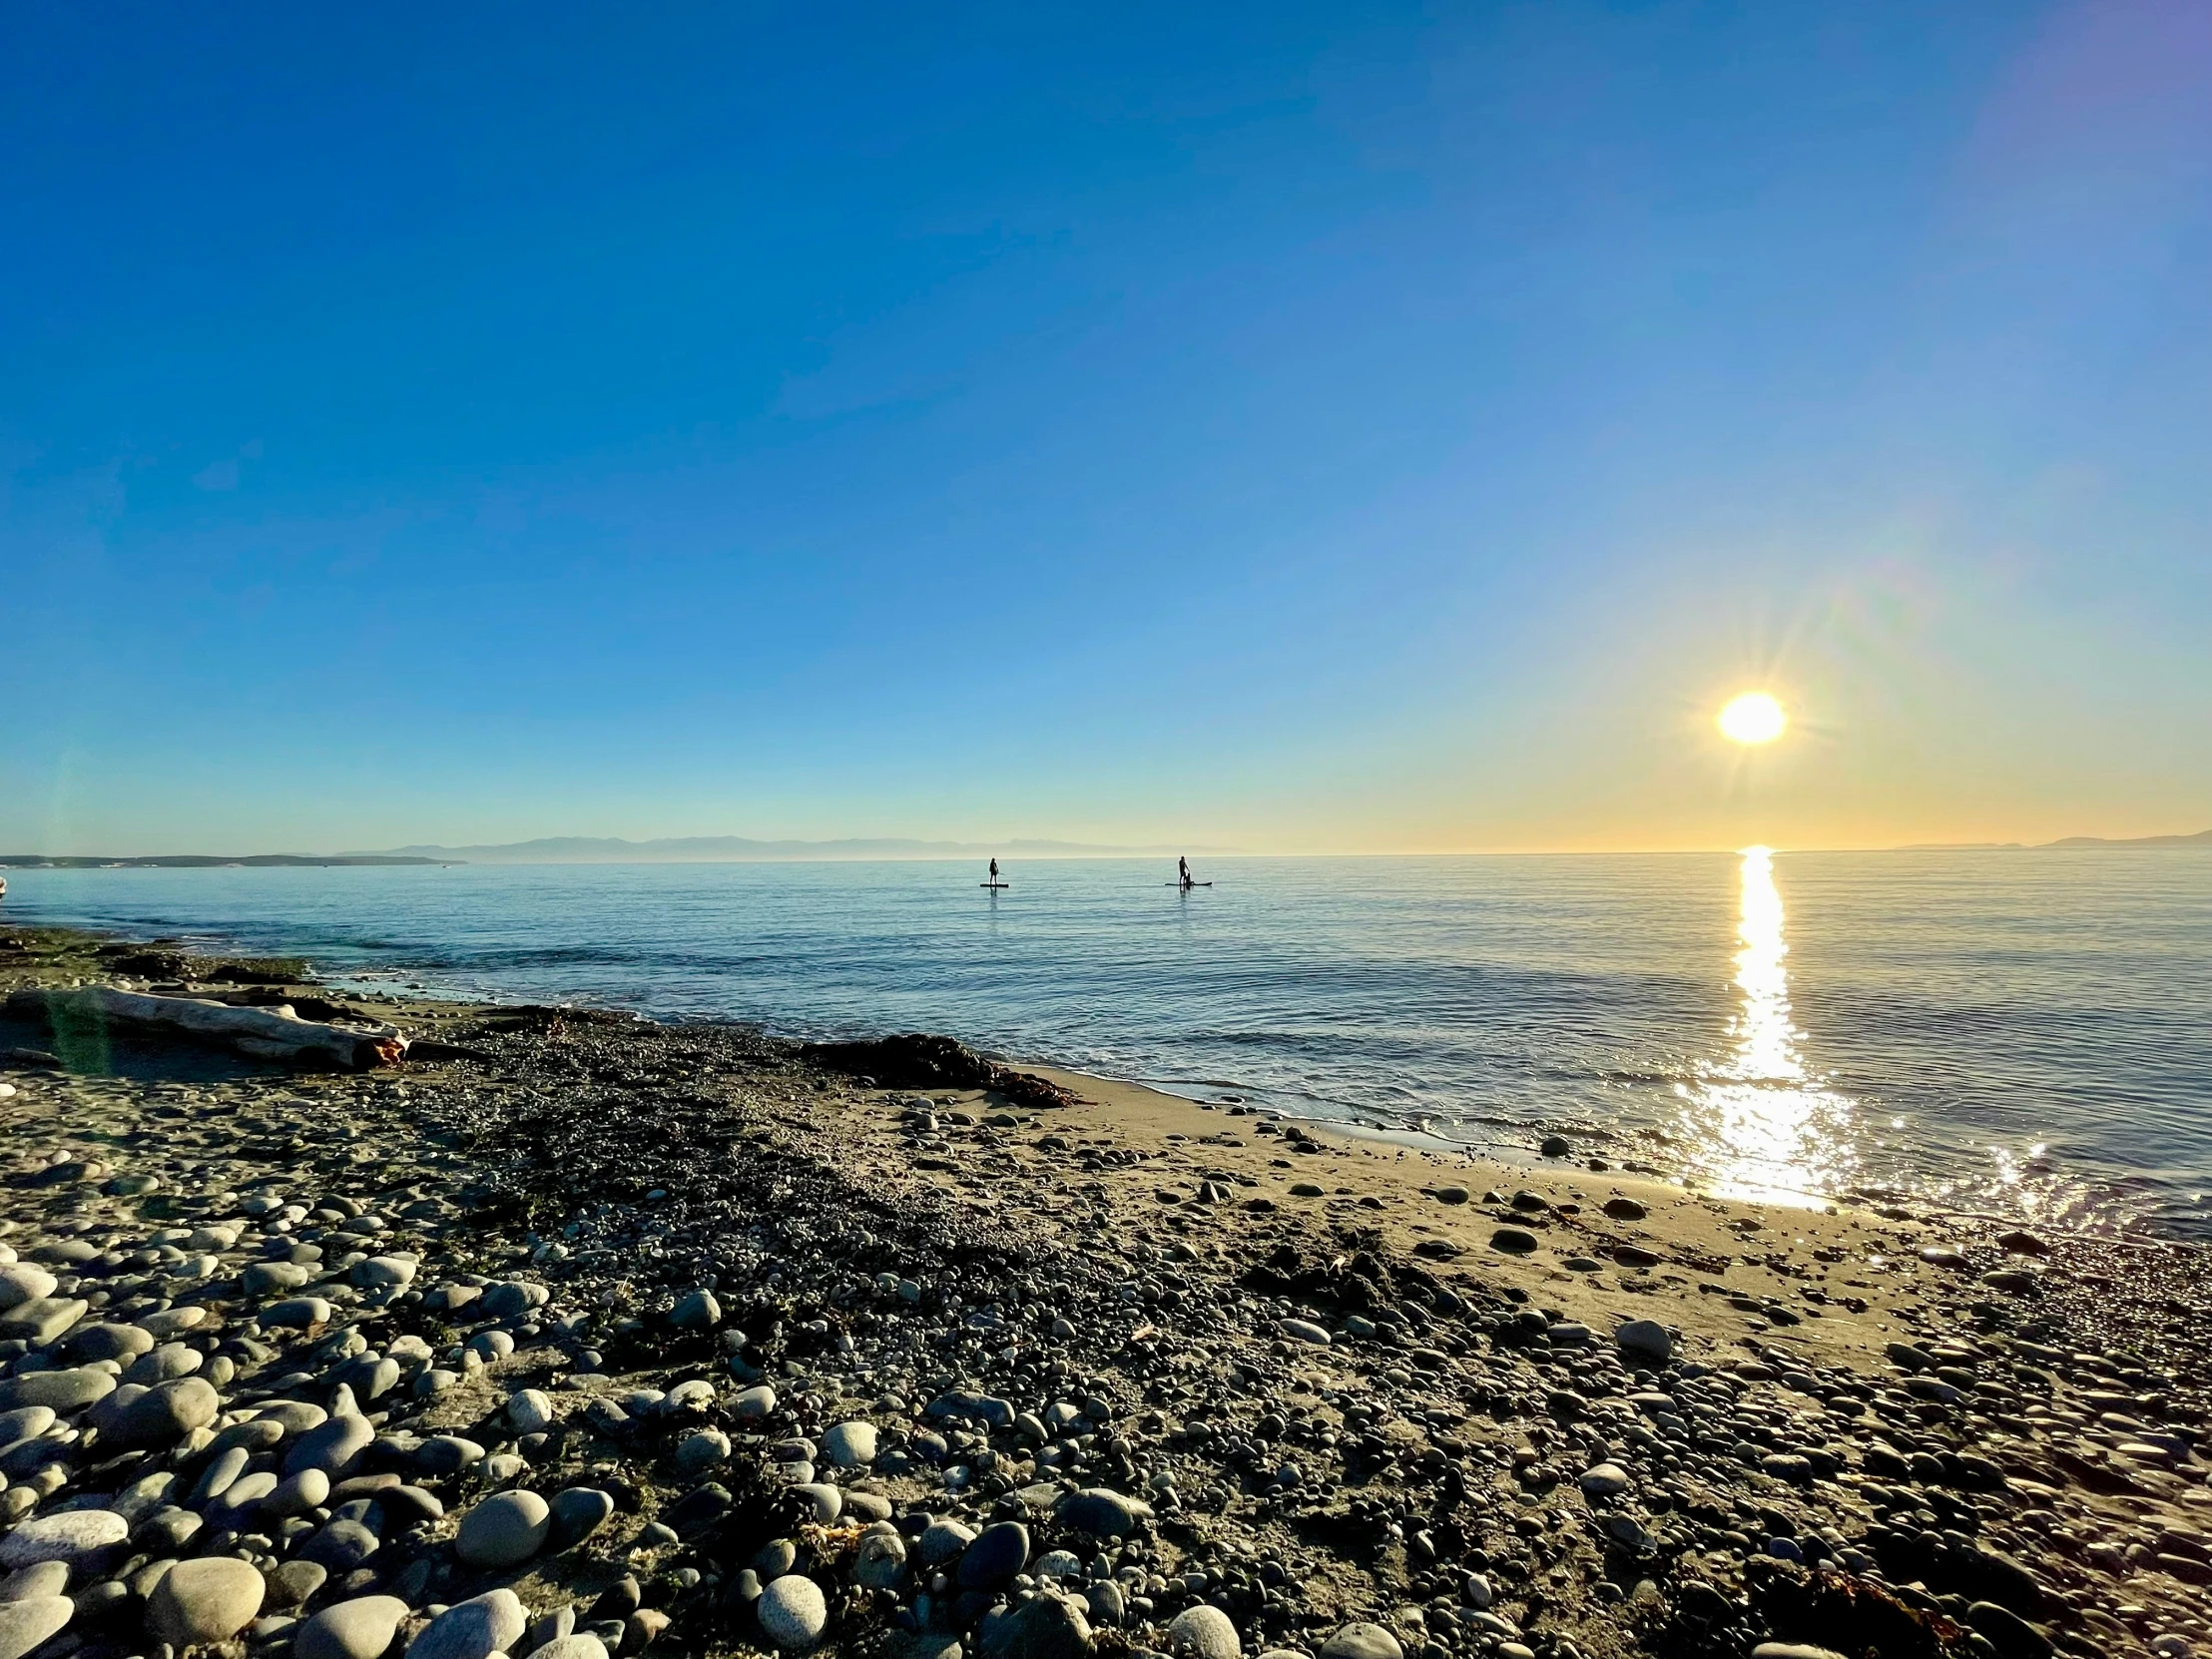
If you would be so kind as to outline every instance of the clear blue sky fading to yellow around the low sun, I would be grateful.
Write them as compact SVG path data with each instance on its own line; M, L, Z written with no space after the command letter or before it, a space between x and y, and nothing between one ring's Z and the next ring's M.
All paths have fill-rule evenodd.
M2192 0L316 11L15 20L0 849L2212 825Z

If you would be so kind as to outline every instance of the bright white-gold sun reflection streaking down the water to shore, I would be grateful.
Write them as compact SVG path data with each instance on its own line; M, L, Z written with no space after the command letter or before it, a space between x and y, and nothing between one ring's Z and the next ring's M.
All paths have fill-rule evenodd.
M1851 1102L1798 1053L1772 847L1743 849L1741 880L1732 1046L1694 1084L1677 1084L1697 1159L1688 1175L1719 1197L1809 1206L1849 1186Z

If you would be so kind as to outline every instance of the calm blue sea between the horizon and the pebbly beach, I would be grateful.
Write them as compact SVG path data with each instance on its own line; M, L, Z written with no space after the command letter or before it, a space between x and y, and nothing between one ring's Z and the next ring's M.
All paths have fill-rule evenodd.
M22 869L0 920L334 978L949 1031L1015 1060L1781 1203L2212 1237L2212 856Z

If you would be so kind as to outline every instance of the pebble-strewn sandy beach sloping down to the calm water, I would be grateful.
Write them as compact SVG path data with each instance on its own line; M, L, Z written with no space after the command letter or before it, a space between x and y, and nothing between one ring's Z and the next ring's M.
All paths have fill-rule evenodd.
M73 938L0 956L0 989L69 973ZM46 1407L0 1447L0 1559L159 1486L73 1557L40 1659L150 1659L181 1617L161 1562L217 1557L265 1584L226 1635L257 1659L336 1659L307 1632L332 1604L396 1595L405 1637L500 1593L622 1655L1214 1659L1201 1608L1241 1652L1321 1659L2212 1641L2194 1245L2008 1248L1046 1066L1020 1097L867 1086L737 1026L354 1000L427 1057L283 1073L117 1035L124 1075L0 1062L0 1274L58 1303L53 1329L0 1310L0 1411L42 1374L104 1396L181 1367L142 1413L210 1396L184 1429ZM100 1371L100 1345L131 1354ZM199 1493L279 1400L363 1425L327 1502ZM290 1462L279 1438L239 1478L257 1458ZM568 1493L608 1495L591 1537L473 1559L502 1504L597 1504ZM1020 1573L971 1573L1004 1524ZM323 1577L270 1601L294 1566ZM779 1593L821 1601L812 1637L774 1635L763 1575L814 1586Z

